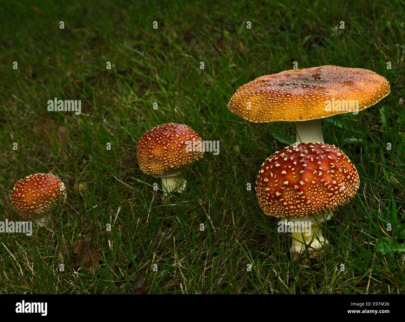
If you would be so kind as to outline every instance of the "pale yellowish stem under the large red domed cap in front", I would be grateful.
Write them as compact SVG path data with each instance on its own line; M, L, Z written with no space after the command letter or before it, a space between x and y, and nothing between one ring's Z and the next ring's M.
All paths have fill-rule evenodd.
M292 246L291 252L294 257L300 256L305 252L307 245L310 254L323 252L325 244L329 244L322 233L322 223L325 219L332 216L332 212L328 216L312 216L309 218L286 218L291 229ZM312 256L311 256L312 257Z

